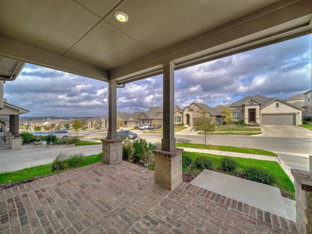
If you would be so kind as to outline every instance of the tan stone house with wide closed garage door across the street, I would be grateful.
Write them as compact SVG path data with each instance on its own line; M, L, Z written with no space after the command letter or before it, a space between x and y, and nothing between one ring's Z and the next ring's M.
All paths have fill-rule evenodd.
M234 120L247 124L300 125L301 111L304 109L278 98L247 96L230 105Z

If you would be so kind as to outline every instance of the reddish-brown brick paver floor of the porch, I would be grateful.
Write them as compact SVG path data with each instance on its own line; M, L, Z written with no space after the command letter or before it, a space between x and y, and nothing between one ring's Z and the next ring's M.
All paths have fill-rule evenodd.
M0 191L0 233L297 233L291 220L129 162L96 163Z

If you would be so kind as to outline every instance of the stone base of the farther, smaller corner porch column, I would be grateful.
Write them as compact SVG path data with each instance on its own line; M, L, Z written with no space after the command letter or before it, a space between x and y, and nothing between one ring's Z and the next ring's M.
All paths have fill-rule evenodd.
M122 161L122 139L102 139L102 162L113 164Z

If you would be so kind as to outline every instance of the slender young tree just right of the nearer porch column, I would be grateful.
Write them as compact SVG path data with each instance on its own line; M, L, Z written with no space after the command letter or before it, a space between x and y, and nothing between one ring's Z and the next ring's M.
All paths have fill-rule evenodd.
M211 135L213 132L215 132L217 122L215 120L215 117L209 116L205 107L198 109L197 113L199 113L199 118L198 121L194 123L192 130L204 132L206 145L206 136L208 133Z

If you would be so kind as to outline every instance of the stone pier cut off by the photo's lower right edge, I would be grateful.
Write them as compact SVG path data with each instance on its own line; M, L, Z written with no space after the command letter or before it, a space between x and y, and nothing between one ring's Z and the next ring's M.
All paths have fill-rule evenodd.
M312 176L292 169L296 198L296 228L299 234L312 234Z

